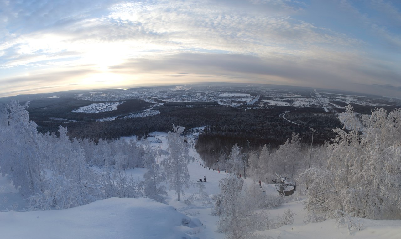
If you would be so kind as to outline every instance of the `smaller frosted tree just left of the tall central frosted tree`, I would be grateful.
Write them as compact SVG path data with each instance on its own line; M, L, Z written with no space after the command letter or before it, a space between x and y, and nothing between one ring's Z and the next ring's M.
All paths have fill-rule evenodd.
M166 187L160 186L160 183L166 180L166 174L164 174L162 168L156 162L156 157L161 154L168 155L168 152L164 150L156 151L148 146L145 155L142 156L146 167L146 173L144 174L144 193L145 196L153 198L160 203L164 203L165 199L162 195L167 196L167 192Z

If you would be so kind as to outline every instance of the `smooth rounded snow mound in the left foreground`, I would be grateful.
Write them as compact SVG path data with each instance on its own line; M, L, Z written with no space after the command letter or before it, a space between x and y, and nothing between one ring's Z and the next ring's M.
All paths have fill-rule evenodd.
M3 212L0 221L2 238L198 238L190 234L202 227L198 219L149 198L108 198L58 211Z

